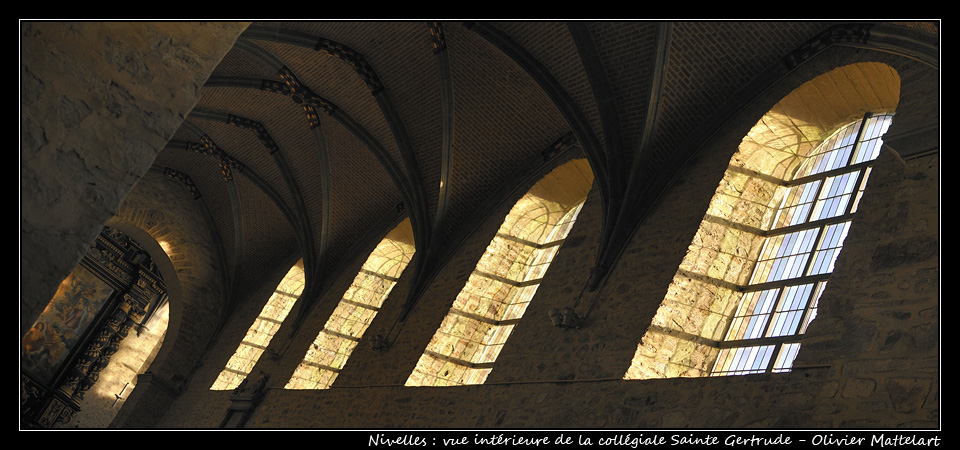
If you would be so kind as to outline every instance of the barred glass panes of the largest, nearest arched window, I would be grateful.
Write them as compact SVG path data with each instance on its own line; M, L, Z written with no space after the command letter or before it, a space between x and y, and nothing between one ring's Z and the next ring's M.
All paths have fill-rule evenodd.
M892 115L825 140L787 187L710 374L788 371L850 229Z

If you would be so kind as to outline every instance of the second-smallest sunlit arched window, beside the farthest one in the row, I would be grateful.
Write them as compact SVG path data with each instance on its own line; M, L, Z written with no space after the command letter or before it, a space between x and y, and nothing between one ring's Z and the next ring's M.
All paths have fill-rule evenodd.
M415 251L410 219L405 219L370 253L285 389L333 384Z

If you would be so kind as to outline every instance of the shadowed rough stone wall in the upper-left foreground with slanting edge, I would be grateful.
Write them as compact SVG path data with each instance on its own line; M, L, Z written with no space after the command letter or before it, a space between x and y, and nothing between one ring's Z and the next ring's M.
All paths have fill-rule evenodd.
M20 25L26 329L180 127L246 24Z

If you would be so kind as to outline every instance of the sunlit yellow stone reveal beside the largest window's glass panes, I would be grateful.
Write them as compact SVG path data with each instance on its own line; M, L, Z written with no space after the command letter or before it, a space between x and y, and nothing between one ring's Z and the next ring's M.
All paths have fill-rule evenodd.
M804 83L764 114L731 158L625 379L711 374L798 170L865 113L894 112L899 95L892 67L856 63Z

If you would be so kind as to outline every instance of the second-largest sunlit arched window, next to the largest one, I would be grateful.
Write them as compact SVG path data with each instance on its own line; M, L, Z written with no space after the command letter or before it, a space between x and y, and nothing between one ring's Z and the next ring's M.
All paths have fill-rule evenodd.
M568 162L507 214L407 386L482 384L583 206L593 173Z

